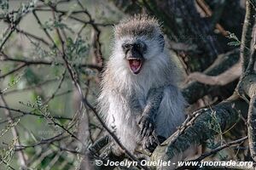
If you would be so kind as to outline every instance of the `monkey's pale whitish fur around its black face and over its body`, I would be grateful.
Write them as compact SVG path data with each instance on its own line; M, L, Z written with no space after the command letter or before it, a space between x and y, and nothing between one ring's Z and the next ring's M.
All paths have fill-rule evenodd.
M145 62L139 74L134 75L121 48L123 42L140 39L148 46ZM176 66L165 51L160 50L157 39L123 37L115 41L113 55L102 75L102 92L98 99L100 111L108 127L113 128L126 149L134 150L141 141L140 118L150 88L165 86L163 99L156 116L156 133L169 137L184 121L184 99L176 87ZM129 103L131 96L139 100L142 110Z

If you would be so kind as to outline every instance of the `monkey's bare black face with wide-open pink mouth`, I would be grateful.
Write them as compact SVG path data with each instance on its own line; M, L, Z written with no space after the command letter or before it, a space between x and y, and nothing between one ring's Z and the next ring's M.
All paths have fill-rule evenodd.
M143 42L124 43L122 48L125 53L125 59L128 60L130 70L133 74L138 74L143 67L143 54L147 50Z

